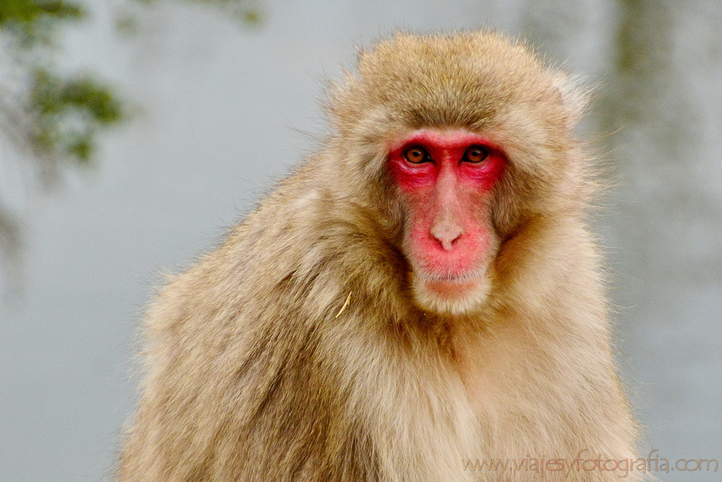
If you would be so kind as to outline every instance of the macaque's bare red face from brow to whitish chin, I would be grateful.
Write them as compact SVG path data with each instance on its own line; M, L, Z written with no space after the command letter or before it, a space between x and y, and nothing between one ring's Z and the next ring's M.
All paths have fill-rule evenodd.
M497 146L469 131L414 131L392 146L389 168L406 204L404 250L422 305L464 311L487 286L498 247L491 192L505 166Z

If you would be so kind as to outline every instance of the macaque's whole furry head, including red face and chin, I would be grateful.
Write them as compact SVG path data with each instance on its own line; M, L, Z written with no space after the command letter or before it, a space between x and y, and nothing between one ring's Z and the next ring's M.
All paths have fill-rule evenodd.
M339 162L366 180L358 202L397 233L417 306L484 307L503 292L505 241L586 201L572 135L583 92L526 46L482 32L399 35L362 52L358 72L329 105Z

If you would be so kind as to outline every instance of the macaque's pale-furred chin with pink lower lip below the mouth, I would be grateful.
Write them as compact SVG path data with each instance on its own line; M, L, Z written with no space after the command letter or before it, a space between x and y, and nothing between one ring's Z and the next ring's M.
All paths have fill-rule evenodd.
M412 274L414 299L422 308L439 315L465 315L479 310L491 290L487 270L464 276L434 276L422 271Z

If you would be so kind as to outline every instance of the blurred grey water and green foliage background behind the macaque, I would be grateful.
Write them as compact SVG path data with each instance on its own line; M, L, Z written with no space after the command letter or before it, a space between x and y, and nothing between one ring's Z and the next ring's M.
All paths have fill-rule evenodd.
M159 273L313 151L357 46L478 27L596 86L580 130L614 184L596 229L643 449L722 460L718 0L0 0L0 481L106 480ZM721 480L697 465L656 475Z

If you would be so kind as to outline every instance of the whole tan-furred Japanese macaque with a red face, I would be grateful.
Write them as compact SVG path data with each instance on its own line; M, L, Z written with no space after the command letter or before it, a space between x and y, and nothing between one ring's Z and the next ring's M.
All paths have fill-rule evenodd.
M149 307L117 480L640 480L585 92L466 32L330 97L323 149Z

